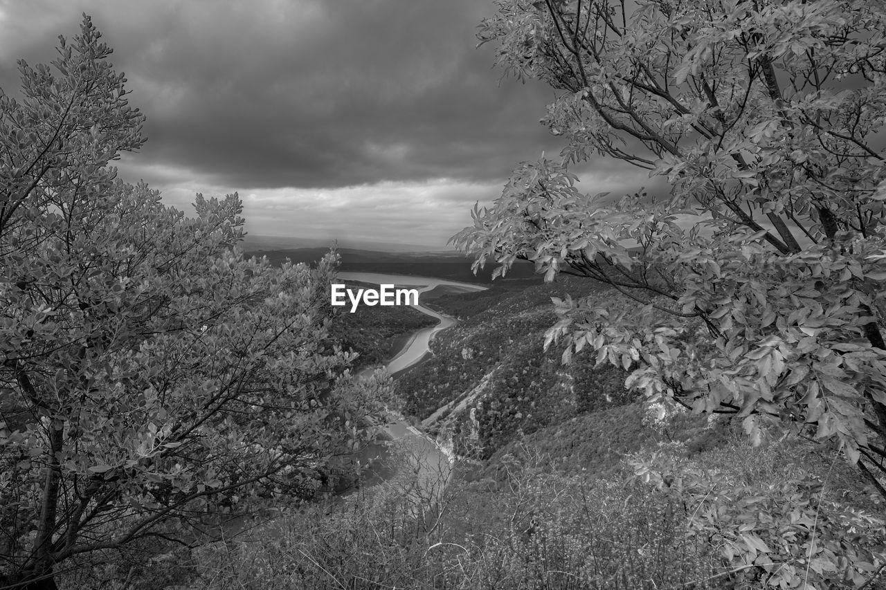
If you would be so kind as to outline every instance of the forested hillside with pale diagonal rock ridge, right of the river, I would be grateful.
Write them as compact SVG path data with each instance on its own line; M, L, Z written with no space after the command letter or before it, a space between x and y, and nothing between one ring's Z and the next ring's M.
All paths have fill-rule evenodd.
M459 454L488 458L522 434L632 400L623 370L587 360L563 365L555 349L542 350L556 322L551 297L567 295L612 296L595 283L563 278L498 281L487 291L426 301L462 322L439 335L430 359L398 379L403 411L453 437Z

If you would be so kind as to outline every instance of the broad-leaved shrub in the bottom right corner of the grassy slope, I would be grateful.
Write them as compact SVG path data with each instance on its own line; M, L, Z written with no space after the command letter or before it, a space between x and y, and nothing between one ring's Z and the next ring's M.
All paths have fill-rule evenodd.
M734 585L854 588L874 578L886 528L835 456L828 466L804 441L784 439L743 454L732 442L693 460L674 449L635 454L628 480L680 498L691 509L683 533L715 549Z

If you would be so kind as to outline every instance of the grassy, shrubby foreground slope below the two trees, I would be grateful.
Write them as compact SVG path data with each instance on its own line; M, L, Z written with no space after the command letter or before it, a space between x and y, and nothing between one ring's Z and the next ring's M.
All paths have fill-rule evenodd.
M164 567L95 565L69 581L84 590L99 579L112 587L128 579L136 580L129 587L206 590L739 590L804 582L851 588L872 578L882 523L870 516L870 494L850 466L825 447L767 438L750 448L740 428L720 423L717 445L690 451L678 439L705 430L698 416L656 423L632 408L623 423L611 409L570 421L575 430L561 442L573 435L602 442L613 427L633 435L586 446L588 462L579 469L569 464L574 448L538 431L527 439L541 447L514 446L495 457L494 469L434 496L416 493L414 458L404 454L396 477L336 506L307 506L278 527L282 534L259 528L178 549L159 562ZM616 456L622 460L610 459ZM695 493L689 477L656 479L633 469L637 458L652 456L683 462L705 494Z

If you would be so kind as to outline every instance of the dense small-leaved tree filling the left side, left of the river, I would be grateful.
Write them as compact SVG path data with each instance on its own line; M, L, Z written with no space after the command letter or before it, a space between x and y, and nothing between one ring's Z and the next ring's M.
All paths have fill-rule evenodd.
M328 337L334 255L245 260L237 194L196 217L117 179L144 116L84 15L0 92L0 586L220 501L297 501L365 438L382 384ZM56 570L57 571L57 570Z

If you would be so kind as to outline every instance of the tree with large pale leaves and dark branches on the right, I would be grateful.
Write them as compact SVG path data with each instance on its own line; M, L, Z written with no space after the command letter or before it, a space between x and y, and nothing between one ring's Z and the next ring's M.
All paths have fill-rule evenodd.
M562 160L521 164L453 237L503 274L532 260L637 310L555 301L564 359L697 412L778 416L834 441L886 495L886 4L867 0L498 0L497 62L556 89ZM666 198L583 195L598 154L664 175Z

